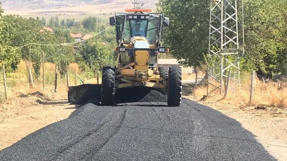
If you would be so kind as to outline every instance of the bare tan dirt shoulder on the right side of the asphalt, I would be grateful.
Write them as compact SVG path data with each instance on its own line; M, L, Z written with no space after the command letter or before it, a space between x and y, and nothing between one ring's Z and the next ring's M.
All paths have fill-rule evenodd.
M236 119L242 127L253 133L265 149L279 161L287 161L287 109L266 107L238 107L214 101L200 101L194 96L186 97L216 109Z

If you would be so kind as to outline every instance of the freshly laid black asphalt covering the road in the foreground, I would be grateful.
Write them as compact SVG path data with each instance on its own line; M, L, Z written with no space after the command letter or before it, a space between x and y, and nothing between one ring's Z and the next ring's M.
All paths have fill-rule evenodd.
M0 151L0 160L276 159L236 120L183 99L181 107L88 103Z

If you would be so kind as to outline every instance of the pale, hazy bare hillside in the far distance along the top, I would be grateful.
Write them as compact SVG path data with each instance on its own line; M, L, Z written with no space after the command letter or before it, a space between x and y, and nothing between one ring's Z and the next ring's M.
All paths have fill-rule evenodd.
M77 12L77 13L100 13L107 11L122 11L132 8L133 0L3 0L1 1L5 11L27 11L16 12L20 15L31 14L38 11L50 12ZM146 2L143 8L155 8L158 0L140 0ZM9 12L13 13L13 12ZM75 14L77 14L75 13Z

